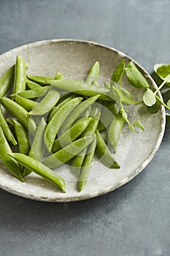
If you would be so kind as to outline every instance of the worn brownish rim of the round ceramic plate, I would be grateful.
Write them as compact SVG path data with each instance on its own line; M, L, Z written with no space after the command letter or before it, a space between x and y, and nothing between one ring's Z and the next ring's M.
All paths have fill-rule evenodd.
M88 45L92 45L92 46L96 45L96 46L101 47L101 48L106 48L108 50L112 50L115 53L117 53L120 57L125 57L129 61L133 61L136 64L136 66L139 67L139 69L142 70L142 73L144 74L144 77L147 78L148 80L150 80L150 83L152 84L153 88L154 89L158 88L157 84L152 79L151 75L147 72L147 70L144 69L137 61L132 59L130 56L128 56L127 54L125 54L122 51L117 50L115 48L109 47L107 45L103 45L103 44L98 43L98 42L88 41L88 40L82 40L82 39L46 39L46 40L40 40L40 41L36 41L36 42L29 42L28 44L20 45L16 48L12 48L11 50L8 50L5 53L2 53L0 55L0 58L1 57L3 58L5 56L9 57L8 56L9 53L14 53L15 51L18 51L18 50L24 50L25 48L31 48L31 47L34 47L36 45L45 45L45 44L50 43L50 42L54 42L54 43L58 43L58 42L85 43L85 44L88 44ZM158 92L158 94L159 94L159 97L161 97L161 99L162 99L162 95L161 95L160 91ZM18 191L18 189L15 189L15 190L10 189L9 187L7 187L7 186L5 186L1 183L0 183L0 188L4 189L7 192L12 193L13 195L18 195L20 197L24 197L24 198L27 198L27 199L37 200L37 201L45 201L45 202L49 202L49 203L50 202L53 202L53 203L74 202L74 201L87 200L87 199L90 199L92 197L98 197L98 196L101 196L101 195L105 195L108 192L113 192L115 189L125 185L126 183L131 181L133 178L135 178L139 173L141 173L142 170L144 170L145 167L147 167L147 165L151 162L151 160L155 156L156 152L158 151L158 148L161 146L161 142L163 140L163 135L164 135L164 132L165 132L165 127L166 127L166 111L165 111L165 108L163 107L163 105L161 105L161 127L160 127L161 130L159 132L158 139L155 143L154 150L147 157L147 159L144 162L142 162L141 165L139 165L139 167L134 171L134 173L131 173L131 175L124 178L123 181L121 181L116 186L109 187L108 189L102 189L101 191L98 190L97 192L93 192L93 193L90 193L90 194L87 193L83 196L80 194L80 195L72 196L70 198L69 198L69 196L66 197L66 198L63 197L63 199L61 199L61 198L58 198L58 197L53 197L53 198L51 197L50 198L50 197L41 197L41 196L36 196L36 195L28 195L28 194L25 194L25 193L22 193L22 192Z

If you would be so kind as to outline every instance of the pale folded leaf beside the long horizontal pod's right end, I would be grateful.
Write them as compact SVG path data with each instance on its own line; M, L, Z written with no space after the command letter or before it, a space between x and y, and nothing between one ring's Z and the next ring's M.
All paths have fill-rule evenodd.
M117 95L117 101L121 100L121 102L127 105L131 105L134 103L132 95L125 89L118 89L117 87L112 86L112 91L115 91Z

